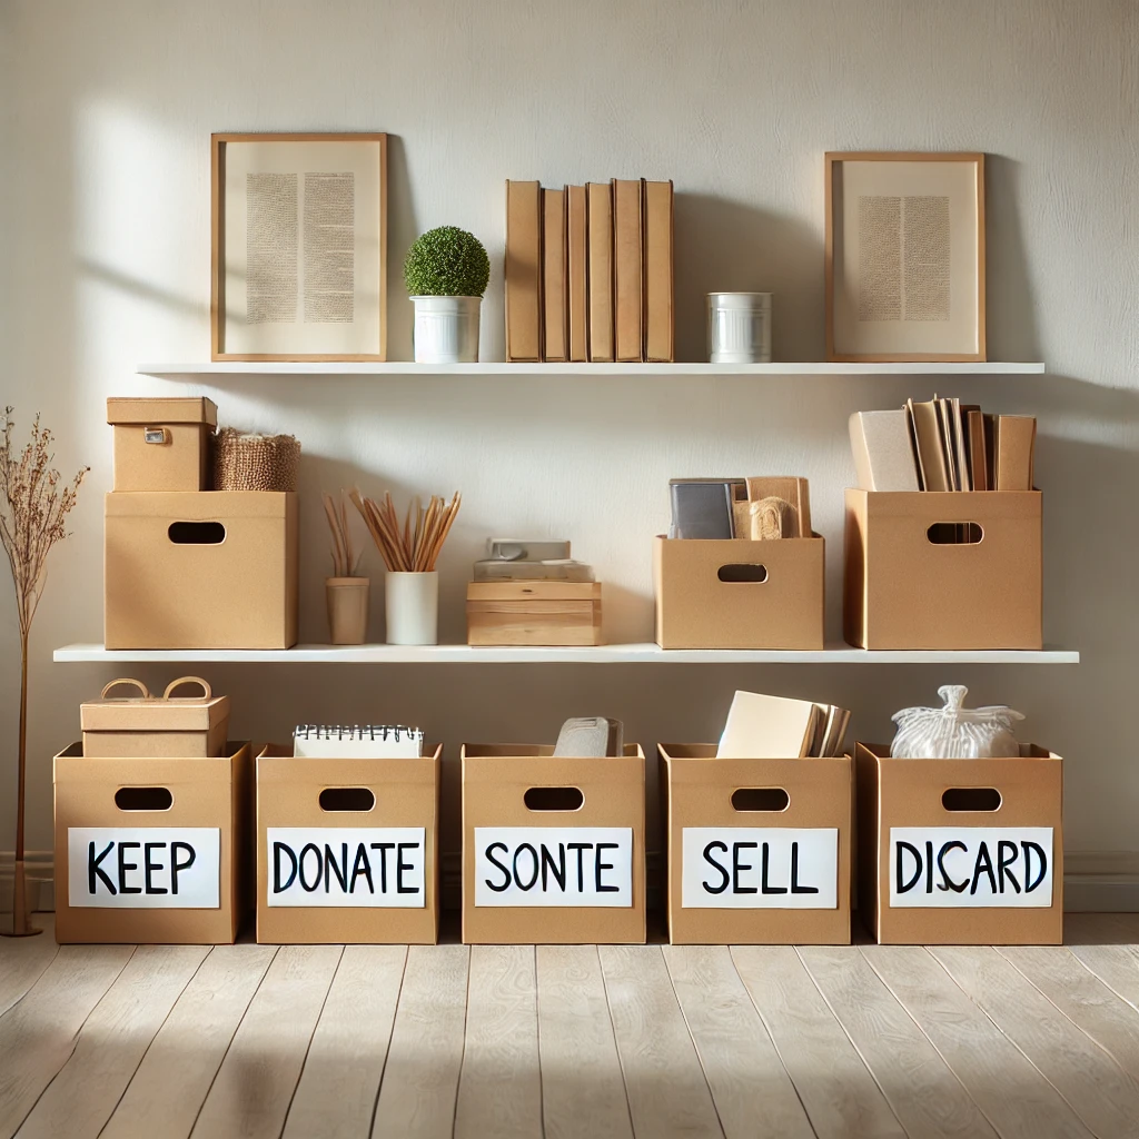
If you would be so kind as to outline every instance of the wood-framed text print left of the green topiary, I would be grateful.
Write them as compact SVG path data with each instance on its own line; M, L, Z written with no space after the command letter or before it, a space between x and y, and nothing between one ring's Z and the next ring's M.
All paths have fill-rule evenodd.
M387 136L212 136L211 357L387 358Z

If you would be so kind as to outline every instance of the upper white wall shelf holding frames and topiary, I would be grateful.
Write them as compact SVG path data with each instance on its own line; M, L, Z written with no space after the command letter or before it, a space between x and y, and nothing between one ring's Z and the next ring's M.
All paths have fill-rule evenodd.
M142 376L1039 376L1042 363L140 363Z

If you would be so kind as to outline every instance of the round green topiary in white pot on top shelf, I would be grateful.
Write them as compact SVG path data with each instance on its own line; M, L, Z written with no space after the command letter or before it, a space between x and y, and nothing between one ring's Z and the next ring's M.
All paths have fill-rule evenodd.
M483 243L454 226L418 238L403 263L416 306L416 363L478 360L478 309L491 276Z

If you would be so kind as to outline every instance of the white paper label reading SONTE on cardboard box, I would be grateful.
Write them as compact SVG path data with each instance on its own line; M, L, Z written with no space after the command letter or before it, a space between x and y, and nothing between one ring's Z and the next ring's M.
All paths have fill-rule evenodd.
M475 827L475 906L632 904L632 827Z

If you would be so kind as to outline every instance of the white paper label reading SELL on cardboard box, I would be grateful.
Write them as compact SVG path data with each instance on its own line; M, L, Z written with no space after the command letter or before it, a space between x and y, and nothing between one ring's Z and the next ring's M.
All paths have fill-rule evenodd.
M835 827L685 827L685 909L838 908Z

